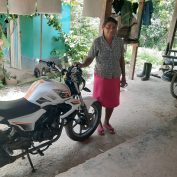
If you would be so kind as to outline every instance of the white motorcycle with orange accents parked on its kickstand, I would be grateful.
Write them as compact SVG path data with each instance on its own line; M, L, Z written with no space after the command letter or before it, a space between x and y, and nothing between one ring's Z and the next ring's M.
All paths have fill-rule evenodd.
M61 72L54 62L48 66ZM101 105L92 97L83 97L85 87L82 70L72 66L62 70L65 83L38 80L23 98L0 101L0 167L30 154L44 155L57 141L65 127L75 141L90 137L101 119ZM20 150L20 151L19 151Z

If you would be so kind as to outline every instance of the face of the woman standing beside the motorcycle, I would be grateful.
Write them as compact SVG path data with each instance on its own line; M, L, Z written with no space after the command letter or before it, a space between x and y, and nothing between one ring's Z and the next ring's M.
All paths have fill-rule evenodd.
M106 23L102 28L105 37L113 37L117 31L117 25L113 22Z

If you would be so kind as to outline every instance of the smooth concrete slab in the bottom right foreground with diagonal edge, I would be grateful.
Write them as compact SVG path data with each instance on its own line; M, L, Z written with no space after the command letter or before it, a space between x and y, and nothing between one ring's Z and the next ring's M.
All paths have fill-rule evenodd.
M56 177L176 177L176 120L175 125L142 134Z

